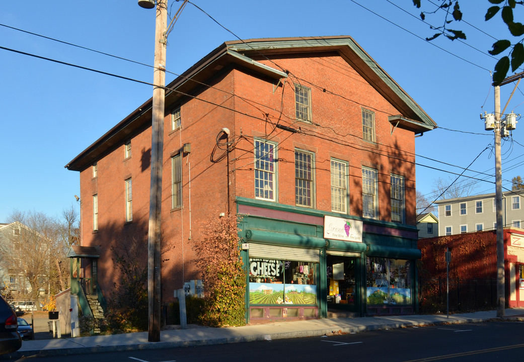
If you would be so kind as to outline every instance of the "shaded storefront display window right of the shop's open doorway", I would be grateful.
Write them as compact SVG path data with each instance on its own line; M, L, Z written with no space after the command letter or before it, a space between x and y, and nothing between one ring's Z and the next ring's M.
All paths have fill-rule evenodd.
M369 305L411 304L409 260L368 256L366 264Z

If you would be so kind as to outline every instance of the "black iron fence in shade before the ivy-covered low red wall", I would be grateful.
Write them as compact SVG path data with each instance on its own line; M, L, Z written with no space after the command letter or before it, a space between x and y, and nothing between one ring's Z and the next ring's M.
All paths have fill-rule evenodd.
M470 312L497 308L497 279L450 278L450 312ZM446 278L419 279L419 312L447 311Z

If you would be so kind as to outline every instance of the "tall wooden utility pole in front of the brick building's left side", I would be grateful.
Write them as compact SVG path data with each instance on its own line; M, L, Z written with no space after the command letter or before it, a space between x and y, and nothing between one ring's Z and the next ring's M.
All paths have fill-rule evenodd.
M156 0L155 71L151 109L151 188L147 248L148 341L160 341L160 220L162 211L163 122L166 97L167 2ZM138 5L155 7L154 0L139 0Z

